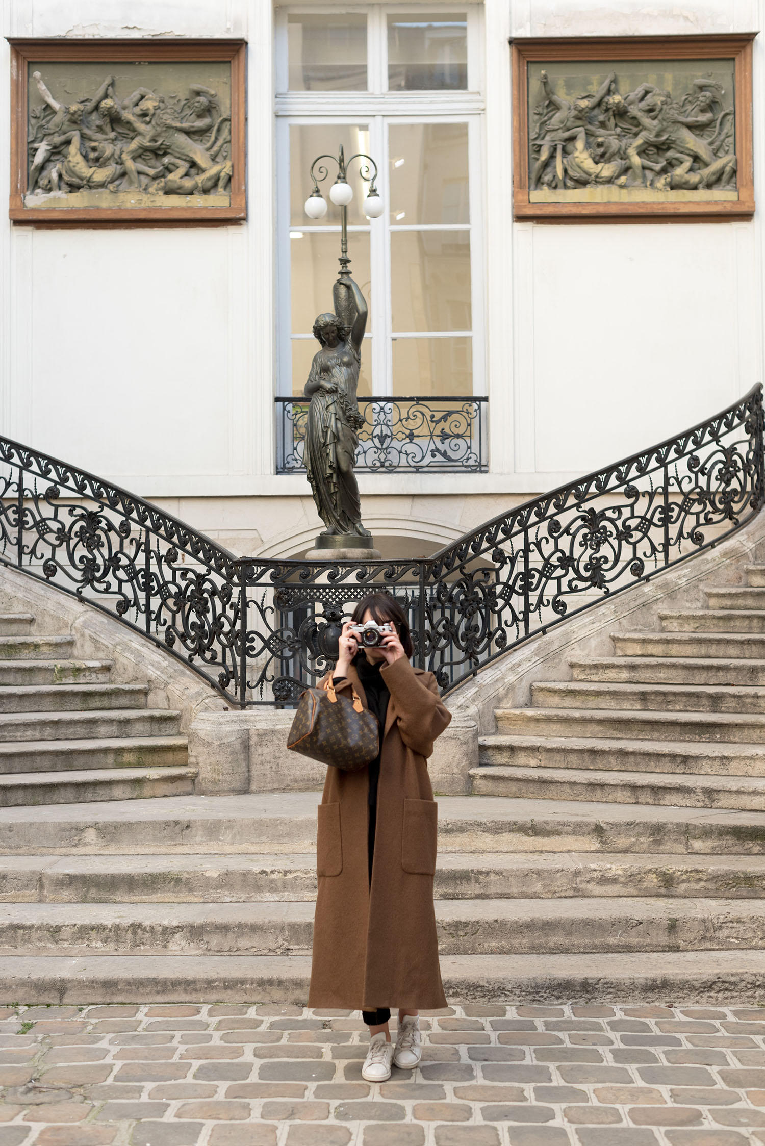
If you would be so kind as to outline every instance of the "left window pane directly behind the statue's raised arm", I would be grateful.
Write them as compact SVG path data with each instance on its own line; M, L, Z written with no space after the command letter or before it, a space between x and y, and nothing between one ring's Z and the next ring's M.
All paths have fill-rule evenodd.
M292 333L314 329L317 314L332 309L332 285L340 265L340 231L290 231L290 284L292 292ZM300 237L297 237L300 236ZM350 274L370 304L369 231L348 235ZM368 321L366 329L371 323Z

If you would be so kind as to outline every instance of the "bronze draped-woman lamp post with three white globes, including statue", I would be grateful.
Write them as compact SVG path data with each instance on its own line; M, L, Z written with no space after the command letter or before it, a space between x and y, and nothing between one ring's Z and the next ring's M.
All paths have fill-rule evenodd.
M353 155L346 162L342 148L337 156L320 155L310 165L314 189L306 199L309 219L323 219L326 199L318 185L329 176L324 160L336 163L337 179L330 198L340 207L340 272L332 288L333 311L320 314L314 336L320 350L314 355L306 398L310 399L306 422L305 462L314 502L326 528L316 539L308 558L333 557L357 560L381 557L371 533L361 521L361 499L354 474L357 431L364 424L358 414L356 387L361 370L361 347L366 327L366 300L350 277L348 258L348 204L353 187L346 179L348 165L360 160L360 175L369 183L364 213L378 219L385 209L377 190L377 164L369 155Z

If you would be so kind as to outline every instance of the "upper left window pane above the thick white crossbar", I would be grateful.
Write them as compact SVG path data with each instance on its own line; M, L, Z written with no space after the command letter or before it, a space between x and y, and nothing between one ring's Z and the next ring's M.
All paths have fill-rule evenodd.
M291 92L366 91L366 16L287 16Z

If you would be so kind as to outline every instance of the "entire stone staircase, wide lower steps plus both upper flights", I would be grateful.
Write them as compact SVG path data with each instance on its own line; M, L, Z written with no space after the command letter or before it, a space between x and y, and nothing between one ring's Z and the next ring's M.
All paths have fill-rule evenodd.
M579 657L573 680L537 682L530 707L497 712L474 794L439 798L448 996L765 997L765 566L747 581L709 589L708 609L657 613L661 631L616 635L616 656ZM29 631L31 619L13 623ZM95 776L78 752L100 760L121 721L143 716L163 733L152 720L175 716L140 707L140 689L110 686L108 664L68 660L69 645L54 654L49 638L33 651L31 637L0 639L2 747L22 752L34 737L61 745L54 761L70 759L64 729L88 745L71 771L32 775ZM80 669L96 675L76 684ZM71 699L52 708L57 697ZM128 753L133 741L121 743ZM108 766L125 774L116 756ZM178 770L190 786L192 770ZM317 792L64 794L40 807L30 792L0 808L0 1002L305 1002Z

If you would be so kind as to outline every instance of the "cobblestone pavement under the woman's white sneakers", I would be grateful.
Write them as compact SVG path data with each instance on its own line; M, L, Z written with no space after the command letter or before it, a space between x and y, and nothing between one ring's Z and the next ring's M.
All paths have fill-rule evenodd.
M361 1080L357 1014L0 1007L0 1146L765 1143L765 1006L427 1012L423 1061Z

